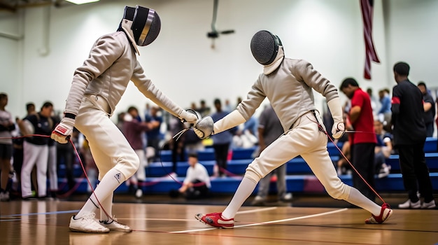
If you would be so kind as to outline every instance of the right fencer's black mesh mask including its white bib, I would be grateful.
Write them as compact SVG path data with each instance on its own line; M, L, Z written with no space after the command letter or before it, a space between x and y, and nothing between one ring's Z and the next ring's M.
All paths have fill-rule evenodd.
M250 48L255 60L264 66L265 74L275 71L283 61L281 40L269 31L257 31L251 39Z

